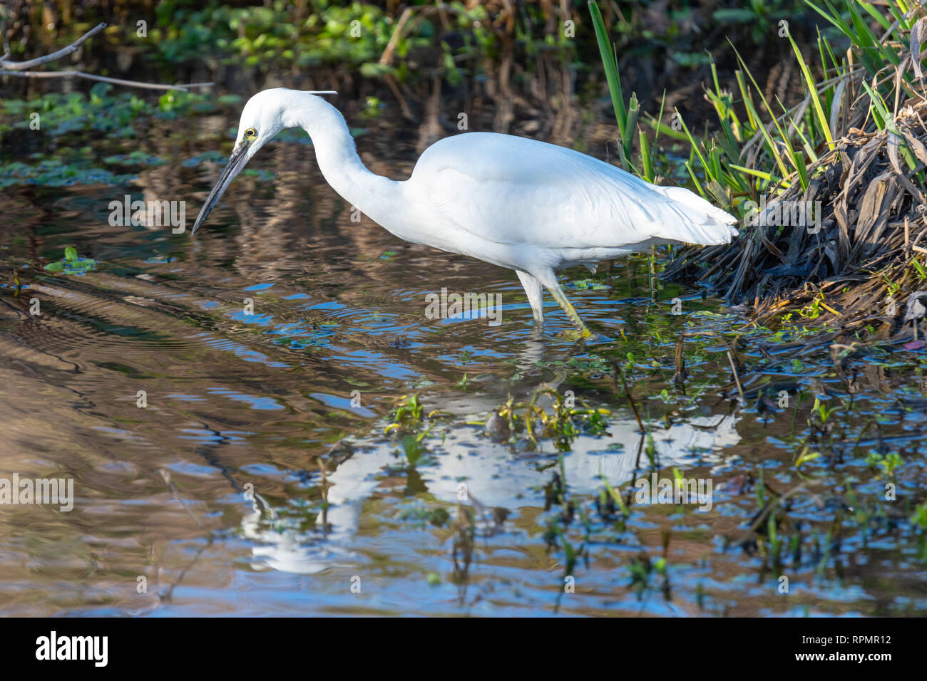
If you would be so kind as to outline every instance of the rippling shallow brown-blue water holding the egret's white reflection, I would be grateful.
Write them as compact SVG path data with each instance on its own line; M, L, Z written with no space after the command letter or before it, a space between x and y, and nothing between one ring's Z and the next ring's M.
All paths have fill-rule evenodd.
M263 173L236 180L194 239L108 224L126 194L186 199L192 223L221 166L189 159L227 153L234 123L162 122L105 143L166 161L130 168L134 183L0 198L0 478L72 478L76 497L68 512L0 510L5 614L927 612L911 520L927 449L921 355L861 351L839 372L827 345L800 352L717 300L653 291L646 258L568 272L596 337L569 340L550 297L539 337L513 272L351 221L298 135L265 147ZM375 128L359 147L400 179L414 152L395 141ZM36 271L66 246L95 269ZM501 294L502 324L428 319L425 296L442 288ZM683 332L684 395L672 382ZM746 405L721 338L739 348ZM765 402L758 385L773 385ZM483 425L539 387L610 410L606 432L577 418L560 447L533 447ZM414 465L385 433L411 394L444 412L425 420ZM835 410L820 427L816 395ZM796 467L806 444L820 456ZM873 453L902 463L886 473ZM624 493L652 468L711 481L711 510L637 503L622 520L597 506L601 475ZM750 531L773 494L764 483L804 486L783 504L778 544Z

